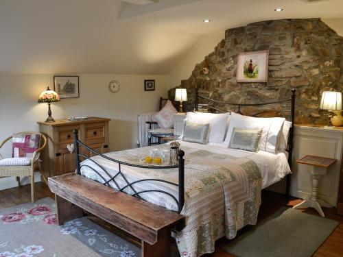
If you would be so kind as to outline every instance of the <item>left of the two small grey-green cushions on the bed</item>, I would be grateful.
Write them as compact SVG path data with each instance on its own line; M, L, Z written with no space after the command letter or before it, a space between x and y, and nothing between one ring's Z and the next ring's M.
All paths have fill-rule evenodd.
M209 123L196 124L187 121L183 129L182 140L206 145L207 139L209 137L209 127Z

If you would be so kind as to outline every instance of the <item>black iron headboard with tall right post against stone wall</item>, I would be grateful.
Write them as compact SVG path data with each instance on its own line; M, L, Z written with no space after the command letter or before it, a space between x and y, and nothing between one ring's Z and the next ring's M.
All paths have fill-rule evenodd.
M295 102L296 102L296 90L293 88L292 89L292 95L290 98L287 99L282 99L282 100L278 100L278 101L270 101L268 103L227 103L224 101L218 101L215 99L210 99L207 97L202 97L199 95L198 93L198 88L196 88L196 101L195 101L195 110L198 111L198 106L199 106L199 99L204 99L206 101L209 101L211 103L217 103L220 105L226 105L226 106L236 106L238 107L238 111L237 113L242 114L241 112L241 107L245 107L245 106L268 106L268 105L272 105L275 103L285 103L285 102L290 102L291 106L290 106L290 110L272 110L272 111L277 111L277 112L290 112L290 122L292 123L292 127L289 129L289 140L288 140L288 164L289 167L291 167L292 169L292 154L293 154L293 130L294 130L294 116L295 116ZM207 108L211 108L213 110L216 110L218 112L225 112L224 110L220 110L220 108L216 108L214 106L210 106L208 105ZM262 114L264 112L269 112L270 110L264 110L261 112L257 112L252 116L257 116L259 114ZM286 192L285 195L287 197L289 197L289 186L290 186L290 175L287 175L287 182L286 182Z

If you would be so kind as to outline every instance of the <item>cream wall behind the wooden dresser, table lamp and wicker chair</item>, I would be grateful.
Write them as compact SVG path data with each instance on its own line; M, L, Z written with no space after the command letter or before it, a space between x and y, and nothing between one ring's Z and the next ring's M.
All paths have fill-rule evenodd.
M110 121L110 151L137 147L137 114L158 110L159 97L167 96L167 75L82 74L80 98L62 99L53 103L52 116L106 117ZM37 121L47 118L47 104L37 103L38 95L47 86L53 88L54 75L0 75L0 142L21 131L38 131ZM120 82L118 93L110 93L112 79ZM155 91L144 91L144 79L156 79ZM11 155L10 144L4 151ZM15 178L0 179L6 184ZM12 184L13 186L15 184ZM3 187L2 187L3 188Z

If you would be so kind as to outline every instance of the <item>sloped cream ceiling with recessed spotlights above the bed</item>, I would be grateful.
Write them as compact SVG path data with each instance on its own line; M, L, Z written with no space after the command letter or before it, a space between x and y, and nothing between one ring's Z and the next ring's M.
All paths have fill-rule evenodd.
M313 17L342 32L342 0L0 0L0 73L166 74L206 34Z

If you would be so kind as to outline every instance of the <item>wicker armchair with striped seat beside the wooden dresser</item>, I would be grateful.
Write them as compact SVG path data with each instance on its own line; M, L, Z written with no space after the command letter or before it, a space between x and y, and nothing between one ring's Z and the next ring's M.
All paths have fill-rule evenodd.
M32 203L34 202L34 171L38 170L40 171L40 174L47 183L47 179L45 178L44 174L40 170L39 165L39 156L40 152L44 149L45 145L47 145L47 138L39 133L39 132L20 132L17 134L40 134L40 145L39 148L34 151L34 154L32 156L31 164L27 166L0 166L0 178L1 177L16 177L16 181L18 182L18 186L20 187L20 177L19 176L30 176L31 177L31 200ZM0 149L3 147L3 145L12 138L12 136L9 136L3 142L0 144ZM3 157L0 154L0 160L2 160Z

